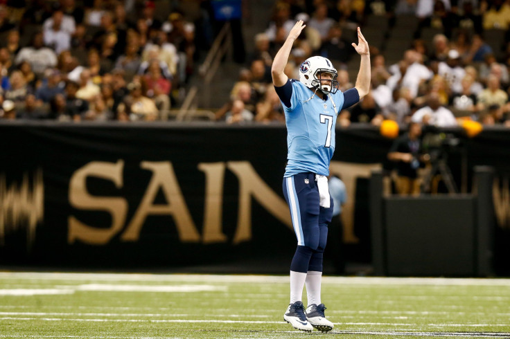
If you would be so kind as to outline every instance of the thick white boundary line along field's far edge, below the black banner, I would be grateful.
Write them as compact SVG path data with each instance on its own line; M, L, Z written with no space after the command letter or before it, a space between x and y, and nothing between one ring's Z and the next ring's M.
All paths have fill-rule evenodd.
M201 275L139 273L39 273L0 272L0 280L103 280L128 282L208 282L208 283L288 283L288 276L274 275ZM430 278L430 277L323 277L324 284L352 285L429 285L429 286L510 286L510 279Z

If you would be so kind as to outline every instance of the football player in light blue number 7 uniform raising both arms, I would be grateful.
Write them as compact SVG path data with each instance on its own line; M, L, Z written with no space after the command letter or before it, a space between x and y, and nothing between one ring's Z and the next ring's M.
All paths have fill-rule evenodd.
M333 199L328 191L329 163L335 151L335 122L338 113L360 101L369 92L369 45L358 28L361 55L355 87L338 90L337 70L325 57L310 57L299 68L299 81L283 73L292 44L305 27L297 21L272 64L276 93L283 104L287 125L287 166L283 194L290 207L297 250L290 264L290 304L283 315L296 329L331 331L321 302L322 255L326 247L328 223L333 214ZM308 306L301 295L306 284Z

